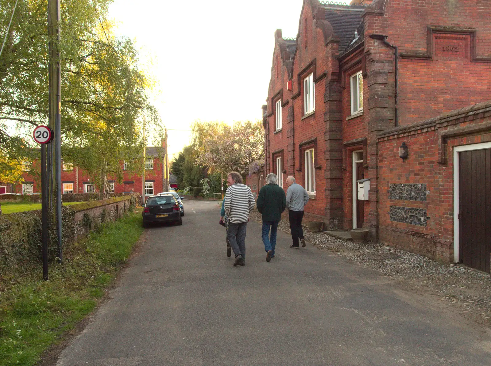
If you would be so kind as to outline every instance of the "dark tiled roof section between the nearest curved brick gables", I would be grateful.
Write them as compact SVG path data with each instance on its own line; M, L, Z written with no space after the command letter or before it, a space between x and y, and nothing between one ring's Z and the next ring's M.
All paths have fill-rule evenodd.
M350 46L350 42L354 38L355 30L362 21L361 16L365 10L364 6L352 5L325 5L325 19L332 26L332 30L339 37L339 54ZM358 33L359 36L363 36Z

